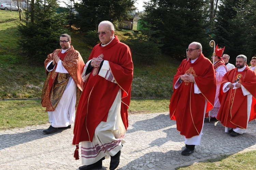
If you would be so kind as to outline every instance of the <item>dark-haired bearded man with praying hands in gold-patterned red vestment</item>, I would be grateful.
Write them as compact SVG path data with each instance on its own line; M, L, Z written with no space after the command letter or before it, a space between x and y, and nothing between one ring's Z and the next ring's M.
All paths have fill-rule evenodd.
M46 80L42 91L42 106L46 107L51 134L58 129L70 129L75 120L75 108L83 90L83 58L71 44L68 34L60 36L60 47L47 56L44 62Z

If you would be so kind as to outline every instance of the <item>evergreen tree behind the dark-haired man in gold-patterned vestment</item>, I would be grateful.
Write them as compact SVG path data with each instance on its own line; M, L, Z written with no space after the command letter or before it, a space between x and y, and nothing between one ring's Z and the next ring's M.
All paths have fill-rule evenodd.
M56 13L56 0L34 0L26 10L26 20L19 24L19 45L31 61L42 63L59 46L59 37L67 33L65 16Z

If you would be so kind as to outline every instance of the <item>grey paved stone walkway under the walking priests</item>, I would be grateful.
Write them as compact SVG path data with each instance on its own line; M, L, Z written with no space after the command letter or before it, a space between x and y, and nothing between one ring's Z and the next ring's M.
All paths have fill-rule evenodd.
M73 125L46 135L42 131L49 125L0 131L0 169L75 170L82 166L81 159L73 158ZM221 155L256 150L255 134L255 120L249 123L247 133L237 137L225 133L218 121L206 121L201 145L192 155L183 156L184 137L168 113L131 114L117 169L171 170ZM109 169L109 163L110 158L103 160L104 170Z

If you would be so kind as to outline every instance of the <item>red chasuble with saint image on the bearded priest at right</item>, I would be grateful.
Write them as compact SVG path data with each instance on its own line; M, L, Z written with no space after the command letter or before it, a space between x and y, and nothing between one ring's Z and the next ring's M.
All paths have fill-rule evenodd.
M249 121L251 121L256 119L256 74L247 65L244 71L241 72L238 72L238 69L234 68L224 75L219 89L221 107L216 118L223 123L223 126L246 129L247 96L243 95L242 88L229 89L223 93L223 85L227 82L241 83L252 94L251 114L249 118Z

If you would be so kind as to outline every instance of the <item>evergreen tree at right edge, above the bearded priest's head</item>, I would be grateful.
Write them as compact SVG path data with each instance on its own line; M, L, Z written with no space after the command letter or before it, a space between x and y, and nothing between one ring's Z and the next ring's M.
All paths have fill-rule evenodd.
M215 39L221 46L226 46L224 53L230 55L230 63L234 64L240 54L247 58L255 55L255 14L254 0L223 0L219 6Z

